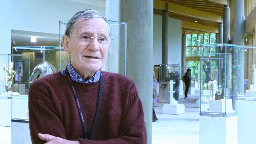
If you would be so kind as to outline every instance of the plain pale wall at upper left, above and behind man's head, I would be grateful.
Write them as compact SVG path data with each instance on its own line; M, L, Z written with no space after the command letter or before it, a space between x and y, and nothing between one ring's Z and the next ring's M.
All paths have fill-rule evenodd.
M68 0L1 0L0 53L11 53L11 29L59 34L59 21L92 8L105 14L105 7Z

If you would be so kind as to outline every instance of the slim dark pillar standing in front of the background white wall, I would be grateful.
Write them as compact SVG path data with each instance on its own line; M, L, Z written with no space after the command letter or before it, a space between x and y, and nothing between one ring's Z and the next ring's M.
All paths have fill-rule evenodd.
M162 15L162 64L168 64L168 3L165 3L165 10ZM168 76L167 67L162 67L161 81L165 81L165 76Z

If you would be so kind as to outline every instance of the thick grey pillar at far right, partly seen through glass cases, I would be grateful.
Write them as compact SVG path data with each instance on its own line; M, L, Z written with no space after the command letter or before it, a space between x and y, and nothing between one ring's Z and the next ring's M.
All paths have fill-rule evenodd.
M234 44L244 45L243 35L244 0L234 0ZM237 92L244 94L244 49L238 50Z

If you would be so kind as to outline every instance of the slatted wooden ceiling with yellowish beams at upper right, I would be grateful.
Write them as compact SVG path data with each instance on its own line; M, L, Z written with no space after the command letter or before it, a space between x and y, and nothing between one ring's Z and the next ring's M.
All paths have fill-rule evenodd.
M227 0L154 0L154 14L162 15L165 3L169 17L182 20L186 33L218 33Z

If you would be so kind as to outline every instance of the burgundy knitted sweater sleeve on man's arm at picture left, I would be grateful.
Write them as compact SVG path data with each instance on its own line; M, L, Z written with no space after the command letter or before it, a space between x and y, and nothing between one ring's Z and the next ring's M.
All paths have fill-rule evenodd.
M39 139L38 133L67 139L64 126L46 92L30 86L28 108L29 129L33 144L45 143L45 141Z

